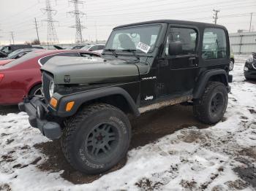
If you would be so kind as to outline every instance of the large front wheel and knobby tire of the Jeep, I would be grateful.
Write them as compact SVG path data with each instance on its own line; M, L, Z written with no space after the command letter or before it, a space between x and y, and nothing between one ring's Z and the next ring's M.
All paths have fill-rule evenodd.
M130 139L131 125L124 112L109 104L92 104L67 121L61 147L73 168L100 174L125 157Z

